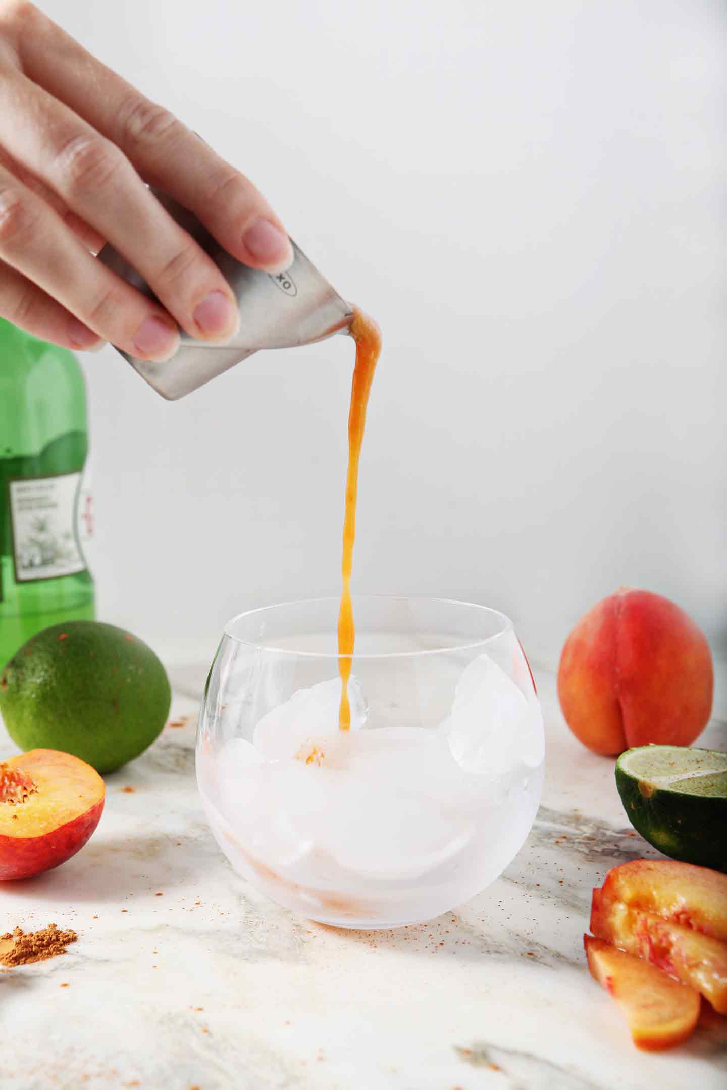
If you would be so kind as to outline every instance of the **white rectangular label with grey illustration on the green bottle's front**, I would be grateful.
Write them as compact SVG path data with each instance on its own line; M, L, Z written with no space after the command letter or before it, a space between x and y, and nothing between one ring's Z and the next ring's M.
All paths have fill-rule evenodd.
M78 540L81 473L9 482L15 582L85 571Z

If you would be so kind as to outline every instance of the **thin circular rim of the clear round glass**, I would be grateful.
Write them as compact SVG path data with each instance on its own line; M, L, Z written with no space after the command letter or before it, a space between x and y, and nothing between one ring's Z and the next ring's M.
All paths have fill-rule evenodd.
M262 640L242 639L239 635L234 635L233 632L230 631L231 627L238 621L243 620L245 617L254 617L256 614L271 613L274 609L284 609L290 606L320 605L324 602L338 604L340 602L340 596L328 594L313 598L291 598L288 602L278 602L269 606L256 606L255 609L244 609L242 613L235 614L234 617L231 617L230 620L227 621L223 628L223 639L232 640L234 643L254 649L255 651L264 651L270 655L289 655L295 658L330 658L338 661L340 658L423 658L427 655L446 655L462 651L474 651L477 647L484 647L486 644L493 643L495 640L500 640L508 632L514 632L514 625L507 614L504 614L500 609L493 608L493 606L480 605L477 602L462 602L459 598L440 598L410 594L353 594L351 598L353 602L354 623L356 602L412 602L426 603L427 605L459 606L467 609L477 610L482 614L489 614L490 616L499 619L500 628L492 635L486 635L482 639L470 640L464 643L458 643L446 647L429 647L422 651L374 651L363 653L359 653L354 650L352 655L339 655L337 651L296 651L295 649L290 647L276 647L270 646L270 644L267 644Z

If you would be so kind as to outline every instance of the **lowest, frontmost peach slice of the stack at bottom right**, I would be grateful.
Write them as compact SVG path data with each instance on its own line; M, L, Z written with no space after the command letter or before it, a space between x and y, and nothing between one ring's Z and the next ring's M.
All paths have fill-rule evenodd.
M618 1004L639 1049L656 1052L687 1040L699 1020L699 992L603 938L583 935L583 945L591 976Z

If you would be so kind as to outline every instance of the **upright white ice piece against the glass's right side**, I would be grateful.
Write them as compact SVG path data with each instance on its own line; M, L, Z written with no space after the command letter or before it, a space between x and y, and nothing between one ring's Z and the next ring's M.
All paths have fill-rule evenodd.
M452 756L469 773L498 777L518 764L537 767L544 755L538 702L526 700L518 686L488 655L464 669L446 725Z

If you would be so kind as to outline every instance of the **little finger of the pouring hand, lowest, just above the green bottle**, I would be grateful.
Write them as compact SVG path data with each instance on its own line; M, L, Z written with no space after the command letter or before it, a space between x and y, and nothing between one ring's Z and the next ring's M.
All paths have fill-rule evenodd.
M94 351L104 340L93 329L74 318L60 303L27 280L22 274L0 263L0 317L12 322L41 340L52 341L75 351Z

